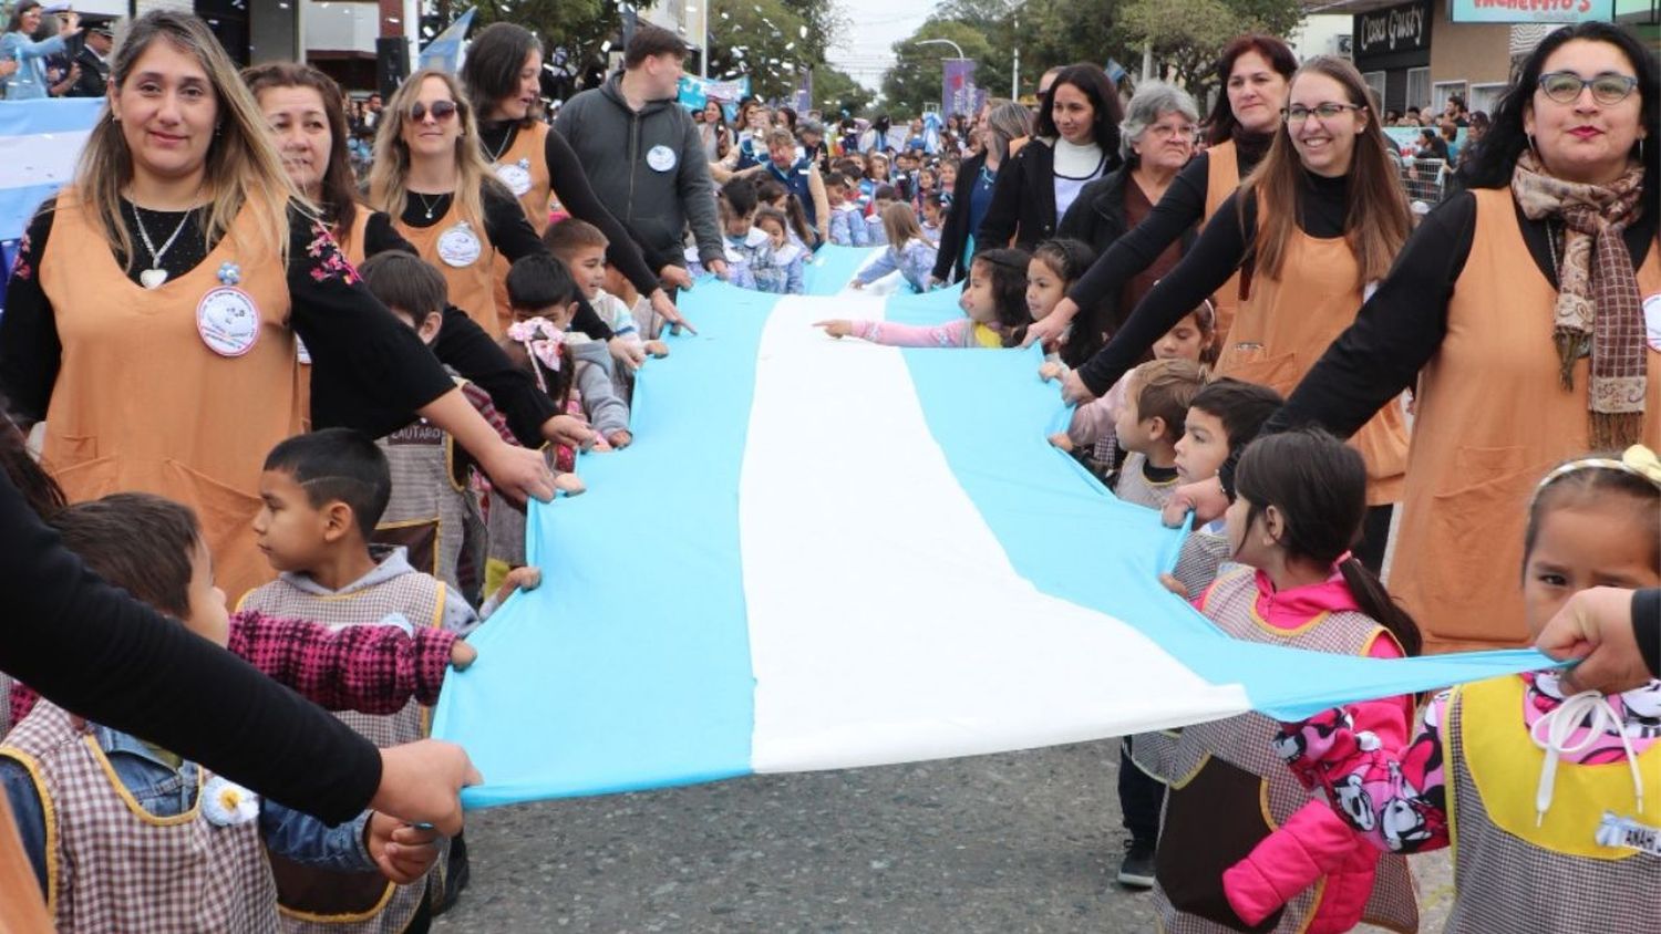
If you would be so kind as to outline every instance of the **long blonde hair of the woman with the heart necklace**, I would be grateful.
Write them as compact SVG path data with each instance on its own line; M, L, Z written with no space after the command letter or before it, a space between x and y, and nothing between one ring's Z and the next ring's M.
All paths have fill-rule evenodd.
M201 65L219 111L203 166L203 191L213 199L201 224L204 251L226 234L234 237L236 217L244 206L254 204L267 214L259 224L261 234L274 237L267 246L287 264L289 204L299 204L309 214L316 211L289 182L266 116L208 25L191 13L171 10L138 17L110 63L110 81L120 91L133 66L158 40ZM126 257L128 269L138 260L138 251L121 222L121 191L133 182L133 153L106 98L75 166L73 187L81 204L91 207L88 222L103 234L111 251Z

